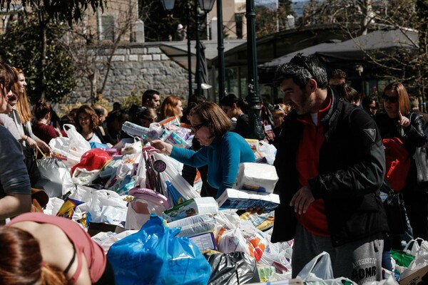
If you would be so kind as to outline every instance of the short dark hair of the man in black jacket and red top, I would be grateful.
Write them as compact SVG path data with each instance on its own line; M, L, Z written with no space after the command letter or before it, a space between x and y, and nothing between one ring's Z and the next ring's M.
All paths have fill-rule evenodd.
M315 54L302 56L301 53L298 53L290 60L290 63L278 66L275 71L275 85L280 86L282 81L289 78L292 78L300 88L305 88L310 78L317 81L320 89L327 88L328 84L327 71Z

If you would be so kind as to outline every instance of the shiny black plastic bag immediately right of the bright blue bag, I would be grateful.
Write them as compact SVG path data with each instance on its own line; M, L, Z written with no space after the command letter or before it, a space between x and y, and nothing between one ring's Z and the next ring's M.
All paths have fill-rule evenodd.
M205 256L211 266L208 285L235 285L260 282L255 259L243 252Z

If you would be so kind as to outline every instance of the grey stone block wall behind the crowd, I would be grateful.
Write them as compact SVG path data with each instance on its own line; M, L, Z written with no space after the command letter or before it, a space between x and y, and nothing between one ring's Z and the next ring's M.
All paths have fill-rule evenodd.
M132 93L142 95L144 90L156 89L163 95L188 97L188 73L185 68L171 61L159 48L161 43L127 43L119 46L111 61L103 99L110 103ZM101 86L106 74L109 50L97 58L96 86ZM65 104L91 103L91 82L87 78L76 78L73 94L67 96Z

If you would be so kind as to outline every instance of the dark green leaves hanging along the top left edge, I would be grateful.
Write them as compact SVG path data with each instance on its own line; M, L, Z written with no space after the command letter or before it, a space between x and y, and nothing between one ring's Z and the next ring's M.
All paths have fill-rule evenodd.
M1 10L9 11L11 4L16 4L17 1L0 0ZM54 19L58 22L67 22L69 26L73 22L77 23L81 20L83 12L89 7L93 12L101 9L103 11L107 4L106 0L21 0L24 9L30 11L40 10L46 14L49 19Z

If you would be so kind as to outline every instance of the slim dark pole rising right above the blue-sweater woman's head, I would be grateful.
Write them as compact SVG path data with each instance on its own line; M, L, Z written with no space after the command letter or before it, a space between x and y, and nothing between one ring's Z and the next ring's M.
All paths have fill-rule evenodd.
M223 45L223 5L217 0L217 50L218 50L218 103L226 95L225 46Z

